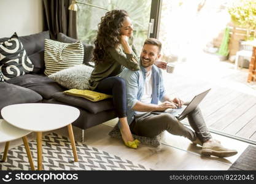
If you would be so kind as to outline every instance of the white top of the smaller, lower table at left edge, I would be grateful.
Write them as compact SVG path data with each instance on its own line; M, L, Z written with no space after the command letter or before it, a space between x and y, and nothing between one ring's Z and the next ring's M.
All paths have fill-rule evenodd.
M8 142L28 135L31 131L10 125L6 120L0 120L0 142Z

